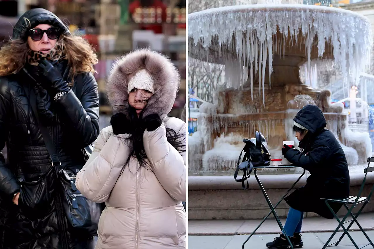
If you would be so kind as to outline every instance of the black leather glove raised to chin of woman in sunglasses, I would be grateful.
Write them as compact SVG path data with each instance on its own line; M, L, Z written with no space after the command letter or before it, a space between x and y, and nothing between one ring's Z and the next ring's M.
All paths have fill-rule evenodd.
M55 96L56 93L68 92L70 90L68 83L62 79L61 72L49 61L44 60L39 62L39 68L47 80L47 82L41 82L41 85L52 96Z

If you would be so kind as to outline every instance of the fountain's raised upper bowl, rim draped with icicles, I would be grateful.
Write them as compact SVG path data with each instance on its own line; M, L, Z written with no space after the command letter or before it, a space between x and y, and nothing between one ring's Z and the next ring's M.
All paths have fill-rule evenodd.
M252 4L203 10L188 15L188 52L192 58L225 64L225 61L236 60L238 55L243 56L244 46L253 47L258 42L268 52L274 47L274 55L300 56L305 60L307 56L309 60L334 58L332 46L338 44L340 32L347 32L331 28L334 19L346 20L346 24L355 23L360 29L370 27L368 19L358 13L325 6ZM358 34L362 32L354 30L352 32ZM240 39L253 43L245 45ZM346 47L337 49L345 50Z

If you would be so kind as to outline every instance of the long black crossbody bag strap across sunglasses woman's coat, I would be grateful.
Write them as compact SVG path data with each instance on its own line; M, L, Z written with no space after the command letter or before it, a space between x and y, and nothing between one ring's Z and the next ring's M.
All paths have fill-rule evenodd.
M52 166L61 165L61 162L56 154L55 145L52 141L52 137L49 134L49 130L39 119L39 113L36 108L36 95L33 89L30 89L28 84L24 84L24 87L28 92L30 92L30 105L33 109L34 116L36 117L36 122L39 125L40 132L42 133L43 140L46 144L47 151L49 153L50 160L52 162Z

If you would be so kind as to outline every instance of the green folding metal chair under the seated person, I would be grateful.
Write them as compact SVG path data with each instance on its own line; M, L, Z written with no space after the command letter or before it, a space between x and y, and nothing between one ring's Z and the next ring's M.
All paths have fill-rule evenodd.
M364 177L364 180L362 181L361 188L360 188L357 196L349 196L346 199L325 199L325 203L326 203L327 207L330 209L330 211L334 215L335 219L339 222L339 225L335 229L334 233L331 235L331 237L328 239L328 241L326 242L326 244L324 245L324 247L322 249L325 249L327 246L331 246L333 244L335 244L335 246L337 246L340 243L340 241L343 239L344 235L346 235L346 234L349 237L349 239L352 241L353 245L355 245L356 249L361 249L357 246L355 241L352 239L352 237L348 233L349 228L353 225L354 222L356 222L356 224L358 225L358 227L360 228L362 233L364 233L365 237L370 242L369 244L367 244L365 246L371 245L374 248L373 242L371 242L369 236L365 233L364 229L361 227L361 225L357 221L358 216L360 215L360 213L362 212L364 207L369 203L370 198L371 198L371 196L374 192L374 185L373 185L373 188L371 188L371 191L370 191L370 194L368 195L368 197L361 196L362 191L364 190L367 173L368 172L374 172L374 166L370 167L370 163L374 162L374 157L369 157L367 159L367 162L368 162L368 166L364 169L365 177ZM336 215L334 210L332 210L332 208L330 206L330 203L341 203L341 204L343 204L343 206L347 209L347 214L344 215L343 219L340 220L338 218L338 216ZM353 215L353 213L352 213L353 208L356 207L359 204L362 205L362 207L358 210L356 215ZM348 216L351 216L352 219L350 219L349 221L346 221ZM345 224L347 222L350 222L350 224L347 228L345 228L343 224ZM332 238L335 236L335 234L337 233L337 231L339 230L340 227L343 228L344 233L340 236L340 238L337 242L328 244L332 240ZM364 248L365 246L363 246L362 248Z

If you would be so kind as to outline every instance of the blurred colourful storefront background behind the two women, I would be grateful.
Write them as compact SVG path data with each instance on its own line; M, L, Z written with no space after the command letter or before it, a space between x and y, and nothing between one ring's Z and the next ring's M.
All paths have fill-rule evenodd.
M2 1L11 0L0 0L0 4ZM139 47L150 47L168 55L178 68L181 87L171 116L180 118L186 103L186 0L19 0L13 4L16 9L13 13L20 16L36 7L58 15L72 32L79 33L95 47L99 58L95 77L105 122L102 126L108 124L111 115L105 97L111 65L119 56ZM0 38L9 38L17 19L0 13ZM2 25L4 22L8 25Z

